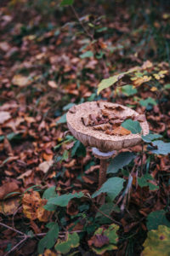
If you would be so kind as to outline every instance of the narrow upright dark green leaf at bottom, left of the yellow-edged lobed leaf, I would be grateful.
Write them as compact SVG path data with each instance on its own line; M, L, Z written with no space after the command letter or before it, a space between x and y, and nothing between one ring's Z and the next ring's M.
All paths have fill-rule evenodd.
M59 226L57 223L49 223L47 227L49 228L48 233L38 242L37 250L40 254L43 253L45 248L50 249L54 247L54 243L59 236Z

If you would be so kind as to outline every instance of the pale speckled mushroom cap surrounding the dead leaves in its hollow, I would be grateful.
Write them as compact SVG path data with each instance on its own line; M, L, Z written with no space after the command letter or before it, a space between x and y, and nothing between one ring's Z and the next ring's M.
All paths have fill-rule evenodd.
M93 126L85 126L82 123L82 117L88 118L89 114L97 114L99 109L107 107L121 106L124 110L119 111L118 116L138 116L139 113L131 108L127 108L120 104L111 102L85 102L80 105L72 107L66 114L66 120L69 130L72 135L76 137L85 146L98 148L101 152L109 152L112 150L120 150L122 148L133 147L141 143L142 138L140 134L129 134L126 136L115 136L105 134L104 131L96 131ZM146 135L149 133L149 125L146 120L140 122L142 133Z

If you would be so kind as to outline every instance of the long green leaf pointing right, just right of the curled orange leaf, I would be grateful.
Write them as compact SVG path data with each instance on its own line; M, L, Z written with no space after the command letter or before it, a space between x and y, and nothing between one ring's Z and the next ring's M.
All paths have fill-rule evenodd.
M75 193L75 194L65 194L65 195L57 195L54 198L50 198L48 200L48 204L56 205L59 207L66 207L73 198L81 198L83 193Z

